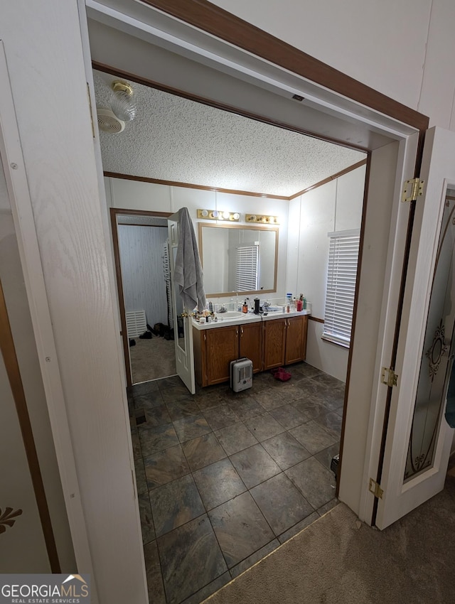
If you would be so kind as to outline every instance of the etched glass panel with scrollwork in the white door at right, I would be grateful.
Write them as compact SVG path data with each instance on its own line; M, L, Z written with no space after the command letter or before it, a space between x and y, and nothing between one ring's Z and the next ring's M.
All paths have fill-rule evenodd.
M405 480L410 480L433 465L454 353L454 247L455 190L448 189L429 301Z

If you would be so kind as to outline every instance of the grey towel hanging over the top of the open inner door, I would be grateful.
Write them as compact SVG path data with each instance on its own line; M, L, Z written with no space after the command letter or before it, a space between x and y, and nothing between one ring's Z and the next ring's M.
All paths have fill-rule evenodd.
M178 286L184 308L192 311L205 308L202 266L193 222L188 207L178 210L178 247L173 278Z

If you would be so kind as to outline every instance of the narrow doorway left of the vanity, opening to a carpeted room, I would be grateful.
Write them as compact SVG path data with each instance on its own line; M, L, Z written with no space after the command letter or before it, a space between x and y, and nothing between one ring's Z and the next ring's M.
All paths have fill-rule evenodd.
M128 386L176 374L167 222L162 212L111 210Z

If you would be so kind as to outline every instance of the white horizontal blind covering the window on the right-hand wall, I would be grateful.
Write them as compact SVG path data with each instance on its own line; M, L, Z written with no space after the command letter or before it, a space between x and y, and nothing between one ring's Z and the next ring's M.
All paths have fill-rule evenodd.
M349 347L360 231L329 233L323 338Z

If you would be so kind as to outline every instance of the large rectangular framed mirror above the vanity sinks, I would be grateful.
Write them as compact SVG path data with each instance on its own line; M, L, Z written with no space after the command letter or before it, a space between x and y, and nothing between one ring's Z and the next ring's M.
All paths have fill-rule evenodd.
M277 291L278 228L199 222L207 296Z

